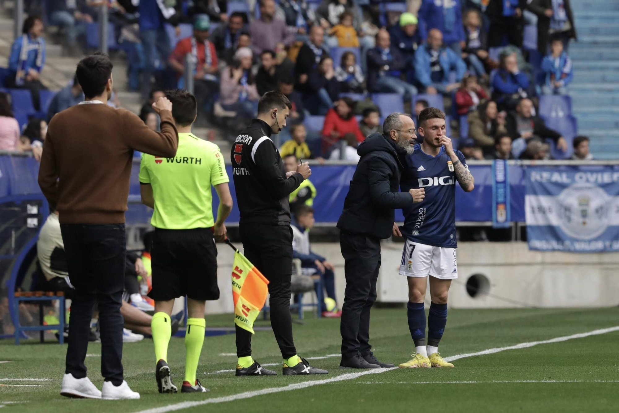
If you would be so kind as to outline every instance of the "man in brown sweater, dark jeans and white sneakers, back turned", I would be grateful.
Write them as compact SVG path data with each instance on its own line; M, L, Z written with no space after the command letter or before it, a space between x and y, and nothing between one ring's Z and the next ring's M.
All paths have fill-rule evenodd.
M172 158L178 132L172 104L160 97L153 109L161 132L139 117L105 104L110 99L112 63L95 53L77 65L85 101L57 113L50 122L38 182L50 207L59 211L69 281L76 288L69 319L69 345L61 394L93 399L139 399L123 379L123 317L129 178L134 149ZM102 391L86 376L84 360L93 307L101 329Z

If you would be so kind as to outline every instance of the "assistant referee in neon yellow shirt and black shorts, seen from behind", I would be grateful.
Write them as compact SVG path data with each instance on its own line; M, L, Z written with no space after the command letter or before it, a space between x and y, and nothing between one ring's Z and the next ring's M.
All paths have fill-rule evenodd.
M178 128L178 151L174 158L144 155L140 164L142 203L154 208L155 235L150 247L155 300L151 327L155 344L155 378L159 393L176 393L167 363L171 336L170 316L177 297L187 296L189 318L185 335L185 376L181 393L207 391L196 378L204 343L206 300L219 299L217 248L210 231L223 241L223 223L232 210L228 174L219 147L191 133L197 104L193 94L174 90L165 96L172 102ZM213 220L212 195L219 197L217 221Z

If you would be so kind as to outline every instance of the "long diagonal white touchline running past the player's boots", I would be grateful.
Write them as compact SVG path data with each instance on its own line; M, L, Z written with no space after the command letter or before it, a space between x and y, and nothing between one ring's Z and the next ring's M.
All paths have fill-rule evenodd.
M590 335L606 334L608 332L613 332L613 331L619 331L619 326L609 327L607 329L598 329L598 330L589 331L589 332L585 332L585 333L565 335L563 337L556 337L556 338L550 339L550 340L521 343L521 344L511 345L509 347L496 347L495 349L483 350L483 351L477 352L477 353L458 354L458 355L454 355L452 357L446 357L445 360L459 360L460 358L473 357L473 356L476 356L476 355L493 354L493 353L503 352L505 350L526 349L527 347L533 347L534 345L538 345L538 344L558 343L558 342L572 340L572 339L581 339L582 337L589 337ZM189 407L202 406L203 404L214 404L214 403L223 403L223 402L235 401L235 400L240 400L240 399L249 399L250 397L262 396L264 394L280 393L282 391L291 391L291 390L305 389L305 388L308 388L308 387L311 387L311 386L317 386L318 384L334 383L336 381L344 381L344 380L354 380L354 379L356 379L358 377L361 377L361 376L371 375L371 374L380 374L380 373L384 373L386 371L396 370L396 369L397 369L397 367L392 367L392 368L374 368L374 369L371 369L371 370L359 371L358 373L345 373L343 375L335 376L335 377L332 377L332 378L329 378L329 379L324 379L324 380L311 380L311 381L303 381L301 383L288 384L288 386L284 386L284 387L271 387L271 388L265 388L265 389L254 390L254 391L246 391L246 392L243 392L243 393L231 394L230 396L213 397L212 399L206 399L206 400L201 400L201 401L181 402L181 403L176 403L176 404L168 404L168 406L155 407L153 409L141 410L141 411L138 411L136 413L167 413L167 412L173 412L173 411L177 411L177 410L188 409ZM445 383L445 382L436 382L436 383L438 384L438 383ZM449 383L449 382L447 382L447 383Z

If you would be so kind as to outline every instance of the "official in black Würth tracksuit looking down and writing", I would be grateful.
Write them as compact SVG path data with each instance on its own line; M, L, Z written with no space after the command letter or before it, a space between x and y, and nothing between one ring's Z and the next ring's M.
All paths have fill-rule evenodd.
M311 175L307 162L286 172L282 157L271 141L286 126L292 105L282 92L262 95L258 118L236 137L232 145L233 179L241 213L240 234L244 254L269 280L271 326L284 357L284 375L324 375L297 355L290 317L292 229L288 197ZM251 333L236 326L236 376L276 375L251 357Z

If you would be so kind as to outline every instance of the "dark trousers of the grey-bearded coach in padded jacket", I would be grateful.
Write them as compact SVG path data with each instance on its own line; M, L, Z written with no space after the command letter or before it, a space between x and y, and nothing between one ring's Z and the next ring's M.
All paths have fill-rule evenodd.
M376 280L381 267L381 241L363 234L340 233L346 290L340 334L342 357L369 353L370 309L376 301Z

